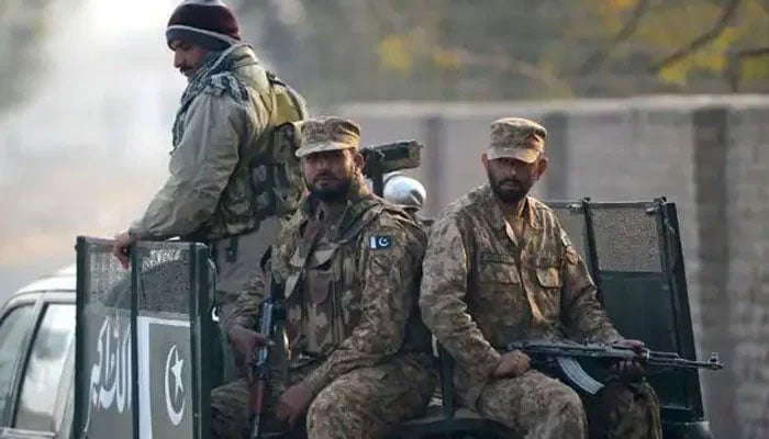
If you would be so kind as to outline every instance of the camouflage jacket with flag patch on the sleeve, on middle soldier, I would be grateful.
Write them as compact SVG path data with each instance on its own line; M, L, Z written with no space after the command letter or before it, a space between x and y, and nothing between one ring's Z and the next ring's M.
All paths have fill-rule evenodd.
M350 370L404 353L430 354L417 294L426 236L405 212L369 193L331 224L305 200L274 246L270 272L283 285L289 369L317 364L314 392ZM254 327L264 297L255 281L235 322Z

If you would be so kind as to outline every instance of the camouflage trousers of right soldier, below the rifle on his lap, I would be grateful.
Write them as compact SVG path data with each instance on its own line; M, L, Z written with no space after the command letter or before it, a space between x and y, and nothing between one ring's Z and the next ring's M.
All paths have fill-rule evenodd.
M476 409L525 439L660 439L659 402L651 386L611 381L594 396L531 370L494 381Z

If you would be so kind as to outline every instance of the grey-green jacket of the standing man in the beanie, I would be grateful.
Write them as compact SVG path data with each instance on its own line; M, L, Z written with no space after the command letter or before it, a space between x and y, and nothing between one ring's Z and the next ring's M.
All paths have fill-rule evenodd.
M229 93L212 81L187 103L179 138L171 153L165 185L130 230L141 239L211 241L255 229L250 169L241 160L259 145L269 124L266 70L250 46L222 54L232 65L219 77L236 78L246 95ZM237 98L237 99L236 99Z

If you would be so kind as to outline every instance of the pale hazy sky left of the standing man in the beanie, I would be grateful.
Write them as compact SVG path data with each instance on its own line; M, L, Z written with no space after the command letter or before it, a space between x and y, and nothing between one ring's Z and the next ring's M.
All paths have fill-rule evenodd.
M54 3L44 72L0 119L0 205L12 206L0 216L0 299L73 263L77 235L123 230L167 178L187 85L165 42L179 1Z

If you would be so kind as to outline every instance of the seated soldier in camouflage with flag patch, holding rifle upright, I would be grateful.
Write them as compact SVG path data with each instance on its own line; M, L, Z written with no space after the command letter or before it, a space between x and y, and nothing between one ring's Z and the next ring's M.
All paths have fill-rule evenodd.
M371 194L358 142L359 127L348 120L301 124L297 156L310 195L269 261L282 285L288 340L288 376L274 374L267 403L270 429L305 427L310 439L382 438L420 415L436 385L416 299L426 236L405 212ZM230 339L241 364L265 341L250 330L263 297L264 283L255 280L237 302ZM247 391L246 380L214 390L218 438L242 437Z

